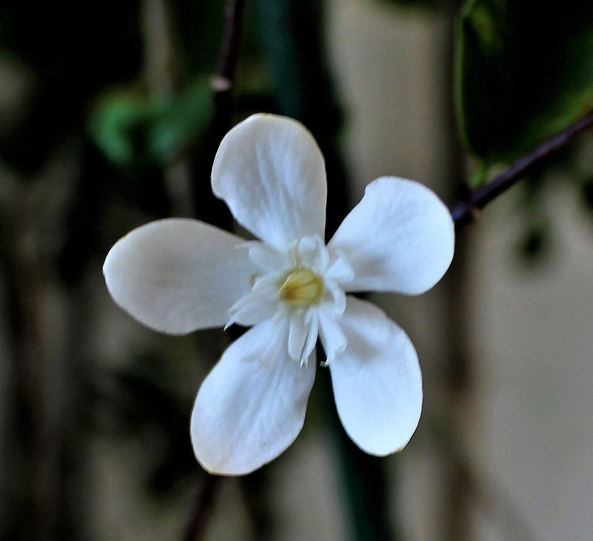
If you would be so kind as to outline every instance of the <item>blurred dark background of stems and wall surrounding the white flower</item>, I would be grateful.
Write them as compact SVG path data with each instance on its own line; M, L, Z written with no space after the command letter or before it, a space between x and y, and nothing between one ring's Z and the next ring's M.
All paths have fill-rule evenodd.
M374 297L425 378L385 459L349 442L321 369L286 453L207 475L189 414L227 334L145 329L101 266L152 219L232 226L209 173L253 112L314 133L329 233L384 174L454 203L593 106L593 5L248 0L221 101L224 4L0 5L0 539L591 539L590 136L461 230L429 294Z

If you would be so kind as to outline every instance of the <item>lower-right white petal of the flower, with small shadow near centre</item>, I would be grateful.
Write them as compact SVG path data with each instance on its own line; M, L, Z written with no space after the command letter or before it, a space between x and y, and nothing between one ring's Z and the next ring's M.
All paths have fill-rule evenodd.
M400 451L422 410L422 375L414 346L379 308L354 297L348 297L340 326L348 344L329 365L340 420L366 453Z

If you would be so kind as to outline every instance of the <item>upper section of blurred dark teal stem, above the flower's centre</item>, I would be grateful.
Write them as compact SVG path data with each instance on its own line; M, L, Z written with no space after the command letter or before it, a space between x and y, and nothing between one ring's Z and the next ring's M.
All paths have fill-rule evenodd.
M326 237L348 211L347 174L339 138L343 113L331 77L320 0L259 0L259 34L278 112L300 120L325 158Z

